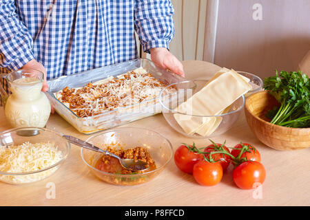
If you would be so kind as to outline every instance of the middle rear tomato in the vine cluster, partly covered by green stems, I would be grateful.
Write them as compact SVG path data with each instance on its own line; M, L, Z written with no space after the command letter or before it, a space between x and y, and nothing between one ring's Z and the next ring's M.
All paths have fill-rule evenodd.
M207 146L205 148L204 151L207 153L211 153L212 151L227 151L227 153L230 153L227 146L223 146L223 148L221 148L222 144L216 144L216 145L217 146L214 146L214 144L210 144L209 146ZM209 155L205 155L205 156L208 157L208 159L209 159ZM230 164L231 158L229 157L229 155L226 155L223 153L215 153L211 157L212 157L212 159L214 159L214 161L220 160L219 163L220 163L220 165L222 165L223 171L226 170Z

